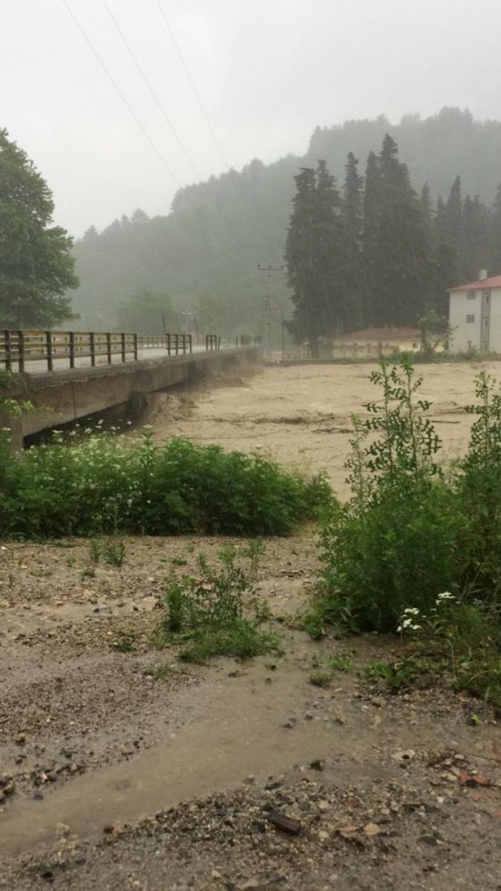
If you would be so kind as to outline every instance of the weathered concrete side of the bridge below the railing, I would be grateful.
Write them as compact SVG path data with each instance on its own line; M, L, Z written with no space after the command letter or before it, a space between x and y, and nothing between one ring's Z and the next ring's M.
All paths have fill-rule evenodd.
M260 361L260 347L239 347L94 368L22 374L12 386L0 391L0 397L19 403L28 400L33 410L19 416L0 413L0 428L11 429L15 450L22 448L26 437L95 413L113 410L117 417L133 420L144 409L149 393L200 380L209 372Z

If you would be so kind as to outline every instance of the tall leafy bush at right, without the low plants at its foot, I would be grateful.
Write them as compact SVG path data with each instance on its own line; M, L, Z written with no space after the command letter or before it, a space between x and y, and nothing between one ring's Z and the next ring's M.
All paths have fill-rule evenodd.
M347 467L353 497L321 534L320 597L308 625L394 631L407 608L428 614L443 591L493 603L501 578L501 396L481 373L480 403L463 462L437 464L439 438L403 360L371 380L382 400L356 419ZM374 436L375 435L375 436Z

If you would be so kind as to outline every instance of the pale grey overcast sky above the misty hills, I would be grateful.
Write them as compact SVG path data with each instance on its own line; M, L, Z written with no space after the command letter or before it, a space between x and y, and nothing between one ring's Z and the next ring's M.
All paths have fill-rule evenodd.
M443 105L501 119L500 29L500 0L0 0L0 127L79 235L167 213L228 163L302 154L317 125Z

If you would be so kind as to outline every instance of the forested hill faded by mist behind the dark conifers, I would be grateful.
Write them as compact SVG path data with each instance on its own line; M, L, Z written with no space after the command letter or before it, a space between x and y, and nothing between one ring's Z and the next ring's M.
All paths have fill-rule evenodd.
M464 195L494 200L501 181L501 122L442 109L423 120L407 115L398 125L382 116L318 127L303 157L290 155L270 165L255 159L240 173L231 170L188 186L177 192L165 217L136 211L102 233L91 227L75 245L81 286L73 305L82 324L114 327L123 301L152 290L170 295L175 308L191 310L201 329L257 330L267 286L257 266L283 262L293 177L300 167L325 159L341 186L348 152L364 173L369 151L379 151L386 133L398 143L416 190L428 183L433 199L446 198L458 174ZM275 275L273 292L288 311L281 274ZM159 330L160 325L159 319Z

